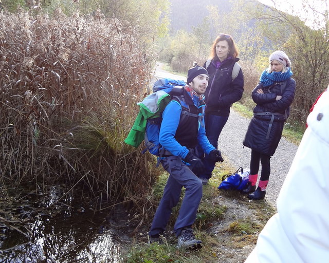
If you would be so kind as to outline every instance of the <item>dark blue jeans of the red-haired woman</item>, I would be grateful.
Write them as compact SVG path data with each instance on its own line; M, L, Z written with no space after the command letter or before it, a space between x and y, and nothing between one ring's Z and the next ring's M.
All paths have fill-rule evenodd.
M222 132L223 127L225 126L228 120L227 117L217 116L217 115L205 115L205 128L206 128L206 136L209 142L214 146L216 149L218 147L218 138ZM198 157L203 160L205 166L205 172L203 174L197 175L200 178L207 178L211 177L211 173L214 170L215 162L209 159L209 155L205 154L203 150L198 147L197 148Z

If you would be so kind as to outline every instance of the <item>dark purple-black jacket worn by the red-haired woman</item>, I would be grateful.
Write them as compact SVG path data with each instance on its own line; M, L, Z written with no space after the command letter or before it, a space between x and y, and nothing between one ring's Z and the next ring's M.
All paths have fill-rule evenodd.
M230 106L242 98L244 85L242 69L232 81L233 66L239 60L236 58L224 61L217 69L216 63L211 61L207 68L209 84L205 93L206 114L229 116Z

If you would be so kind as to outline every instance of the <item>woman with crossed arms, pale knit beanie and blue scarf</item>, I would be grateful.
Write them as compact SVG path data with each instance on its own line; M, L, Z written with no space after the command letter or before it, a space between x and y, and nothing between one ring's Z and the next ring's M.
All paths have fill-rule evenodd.
M296 89L296 82L291 78L291 63L285 52L273 52L269 63L269 67L261 74L259 84L252 91L252 100L257 105L243 140L243 145L251 148L251 159L249 182L242 193L255 200L265 197L271 171L270 158L278 147ZM260 162L261 178L256 189Z

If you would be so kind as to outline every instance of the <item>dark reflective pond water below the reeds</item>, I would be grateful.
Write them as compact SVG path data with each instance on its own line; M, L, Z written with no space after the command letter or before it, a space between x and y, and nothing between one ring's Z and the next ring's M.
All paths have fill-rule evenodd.
M53 187L42 201L29 194L22 205L0 205L0 262L122 261L117 219L62 194Z

